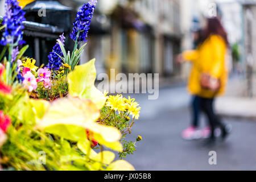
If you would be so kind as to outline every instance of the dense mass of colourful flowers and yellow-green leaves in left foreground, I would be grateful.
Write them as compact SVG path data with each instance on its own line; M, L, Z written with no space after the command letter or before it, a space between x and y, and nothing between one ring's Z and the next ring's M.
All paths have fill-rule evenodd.
M15 2L6 0L10 4L7 10L15 10ZM93 7L96 2L92 0L88 6ZM12 18L7 16L9 20ZM121 130L102 123L100 109L106 100L94 86L95 60L77 65L85 45L77 49L76 42L74 52L67 54L63 49L65 38L61 35L49 55L48 67L38 68L35 59L23 56L28 46L19 51L22 36L3 36L3 40L17 40L7 43L8 59L4 57L4 64L0 64L0 166L18 171L134 170L125 160L112 163L115 154L108 151L105 155L102 150L108 147L129 153L135 150L135 143L122 146ZM3 56L2 53L1 59ZM49 104L51 101L55 102ZM127 108L127 103L124 106ZM113 122L116 113L110 107L105 108L113 116L110 122L118 124ZM129 113L127 110L122 113L115 121L122 120L123 125L118 127L127 129ZM104 115L104 118L108 117ZM97 144L101 147L100 153L93 150ZM47 153L44 164L38 161L37 155L42 151Z

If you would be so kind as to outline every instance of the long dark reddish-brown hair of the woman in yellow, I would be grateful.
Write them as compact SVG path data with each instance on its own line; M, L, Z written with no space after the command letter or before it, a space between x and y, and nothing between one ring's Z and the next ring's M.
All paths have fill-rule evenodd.
M226 46L229 47L228 34L217 17L207 18L207 27L203 31L203 41L209 38L210 35L219 35L224 39Z

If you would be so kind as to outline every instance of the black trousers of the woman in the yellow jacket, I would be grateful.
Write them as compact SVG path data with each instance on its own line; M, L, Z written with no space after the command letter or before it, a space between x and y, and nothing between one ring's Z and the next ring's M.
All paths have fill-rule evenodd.
M221 127L224 129L224 124L221 122L221 119L218 115L214 112L213 107L214 98L203 98L200 97L200 106L201 110L207 115L209 125L211 127L211 138L214 138L214 130L217 127Z

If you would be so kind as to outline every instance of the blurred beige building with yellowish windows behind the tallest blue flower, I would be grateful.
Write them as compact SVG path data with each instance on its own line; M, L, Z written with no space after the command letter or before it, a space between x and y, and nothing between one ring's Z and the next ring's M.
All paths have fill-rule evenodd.
M77 9L84 1L61 1ZM74 6L75 5L75 6ZM174 57L180 52L181 17L179 0L98 0L93 23L104 34L90 31L81 62L96 57L98 73L159 73L179 77L180 65Z

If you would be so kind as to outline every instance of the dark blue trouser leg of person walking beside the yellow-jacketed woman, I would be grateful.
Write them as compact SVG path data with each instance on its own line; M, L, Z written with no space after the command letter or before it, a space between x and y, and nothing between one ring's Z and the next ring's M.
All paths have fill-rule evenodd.
M199 126L199 115L200 115L200 97L192 96L191 102L191 114L192 114L192 126Z

